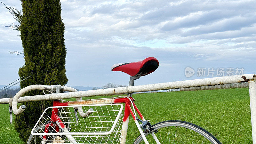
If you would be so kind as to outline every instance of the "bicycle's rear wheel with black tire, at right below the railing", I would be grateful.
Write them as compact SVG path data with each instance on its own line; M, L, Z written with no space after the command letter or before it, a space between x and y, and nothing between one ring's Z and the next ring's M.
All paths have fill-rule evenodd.
M212 143L221 144L210 132L206 131L202 127L180 120L163 121L150 126L150 133L154 132L157 139L161 144L179 144L179 143ZM150 133L144 134L148 142L156 143L153 136ZM138 144L143 141L141 135L134 141L134 144Z

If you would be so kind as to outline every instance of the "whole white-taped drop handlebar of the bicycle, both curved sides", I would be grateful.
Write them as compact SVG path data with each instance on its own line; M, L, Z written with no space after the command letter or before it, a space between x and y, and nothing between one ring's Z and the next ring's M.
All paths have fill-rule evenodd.
M12 100L12 111L14 115L20 115L26 108L25 105L21 105L20 108L18 109L18 100L23 94L32 90L51 90L51 88L52 86L49 86L49 85L35 84L35 85L29 85L21 89L19 92L16 93L16 95ZM76 89L68 86L61 86L60 89L66 92L77 92ZM76 98L76 100L82 100L82 98ZM82 107L77 107L77 109L80 116L83 116L83 117L88 116L88 112L84 113Z

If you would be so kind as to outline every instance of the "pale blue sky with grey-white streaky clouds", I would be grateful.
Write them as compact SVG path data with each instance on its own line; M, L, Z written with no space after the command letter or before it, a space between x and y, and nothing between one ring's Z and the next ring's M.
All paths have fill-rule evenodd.
M2 2L21 10L20 0ZM130 76L111 66L147 57L159 67L135 85L216 77L220 69L222 76L256 73L255 0L60 2L68 86L128 85ZM8 52L23 50L19 31L5 27L12 23L18 24L0 4L0 85L18 79L24 65L23 55ZM187 67L195 74L187 77Z

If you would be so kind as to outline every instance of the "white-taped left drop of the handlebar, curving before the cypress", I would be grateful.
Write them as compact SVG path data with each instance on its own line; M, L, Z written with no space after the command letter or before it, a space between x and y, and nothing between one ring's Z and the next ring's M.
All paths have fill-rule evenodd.
M22 105L18 109L18 100L20 96L32 90L44 90L44 85L41 85L41 84L29 85L21 89L19 92L17 92L12 100L12 111L14 115L20 115L26 108L25 105Z

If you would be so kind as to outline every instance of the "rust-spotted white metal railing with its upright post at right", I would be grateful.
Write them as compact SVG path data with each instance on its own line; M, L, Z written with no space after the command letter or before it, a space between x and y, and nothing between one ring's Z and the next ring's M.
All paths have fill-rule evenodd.
M159 84L147 84L138 86L126 86L118 88L80 91L80 92L68 92L68 93L52 93L46 95L35 95L20 97L18 102L28 101L40 101L40 100L57 100L57 99L68 99L68 98L80 98L80 97L91 97L91 96L104 96L104 95L115 95L132 92L147 92L167 89L178 89L208 85L221 85L221 84L233 84L233 83L249 83L250 91L250 106L251 106L251 120L252 120L252 141L256 144L256 75L245 74L237 76L223 76L213 77ZM9 103L10 98L0 99L0 104Z

